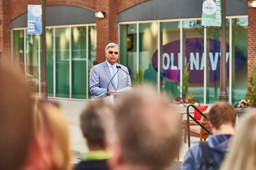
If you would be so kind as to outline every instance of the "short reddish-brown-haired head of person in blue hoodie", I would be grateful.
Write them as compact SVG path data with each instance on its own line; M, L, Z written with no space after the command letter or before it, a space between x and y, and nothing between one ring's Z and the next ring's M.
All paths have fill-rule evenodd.
M214 135L222 133L234 133L237 112L235 108L227 102L215 103L209 113L208 120L211 131Z

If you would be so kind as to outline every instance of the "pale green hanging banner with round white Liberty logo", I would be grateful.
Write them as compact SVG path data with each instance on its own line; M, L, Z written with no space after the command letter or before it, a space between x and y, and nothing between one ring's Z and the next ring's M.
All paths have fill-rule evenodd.
M204 0L202 26L221 27L221 0Z

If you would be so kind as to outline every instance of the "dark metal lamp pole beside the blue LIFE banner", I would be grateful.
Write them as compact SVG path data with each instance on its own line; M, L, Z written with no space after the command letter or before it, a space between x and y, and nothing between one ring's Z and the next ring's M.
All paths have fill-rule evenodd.
M42 0L42 83L41 83L41 95L43 99L47 100L48 85L46 79L46 55L45 55L45 0Z

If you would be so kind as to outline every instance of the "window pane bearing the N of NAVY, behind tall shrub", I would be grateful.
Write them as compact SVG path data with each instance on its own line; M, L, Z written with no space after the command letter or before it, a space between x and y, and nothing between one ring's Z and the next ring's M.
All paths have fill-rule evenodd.
M184 68L189 63L189 88L195 94L194 99L204 102L204 28L201 20L183 21Z

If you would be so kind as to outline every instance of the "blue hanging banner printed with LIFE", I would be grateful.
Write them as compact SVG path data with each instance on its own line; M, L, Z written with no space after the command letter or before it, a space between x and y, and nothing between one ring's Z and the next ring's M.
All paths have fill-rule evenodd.
M42 5L28 5L27 34L42 35Z

